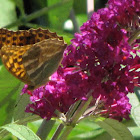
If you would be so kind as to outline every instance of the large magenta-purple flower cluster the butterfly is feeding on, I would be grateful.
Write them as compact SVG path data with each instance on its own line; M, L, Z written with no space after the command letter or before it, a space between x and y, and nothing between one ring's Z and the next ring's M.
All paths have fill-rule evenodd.
M138 41L129 44L138 29L139 7L139 0L109 0L106 8L94 12L65 50L63 67L47 85L33 91L26 111L50 119L55 110L66 113L93 90L93 98L100 96L103 103L101 115L128 119L131 105L127 94L139 85L140 77L136 72L140 67L135 50Z

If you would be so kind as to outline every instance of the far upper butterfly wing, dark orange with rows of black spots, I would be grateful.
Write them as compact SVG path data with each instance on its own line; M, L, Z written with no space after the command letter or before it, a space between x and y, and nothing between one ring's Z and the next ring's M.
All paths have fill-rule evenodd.
M1 28L0 49L3 46L25 46L31 44L33 45L37 42L49 38L58 38L59 40L63 40L63 37L57 36L56 33L50 32L49 30L43 30L41 28L19 31L10 31Z

